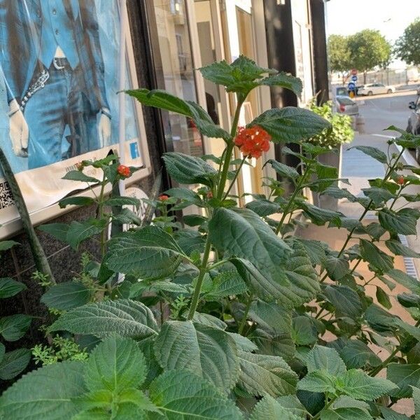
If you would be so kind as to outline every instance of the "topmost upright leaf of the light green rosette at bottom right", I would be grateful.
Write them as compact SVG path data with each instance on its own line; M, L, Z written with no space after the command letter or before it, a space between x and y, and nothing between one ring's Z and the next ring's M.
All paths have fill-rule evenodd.
M346 365L334 349L324 346L314 346L306 358L308 372L321 370L332 377L338 377L346 372Z

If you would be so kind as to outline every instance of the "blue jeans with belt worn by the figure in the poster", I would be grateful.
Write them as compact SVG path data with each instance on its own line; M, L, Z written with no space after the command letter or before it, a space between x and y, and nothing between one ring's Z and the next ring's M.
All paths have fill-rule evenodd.
M50 78L45 87L34 92L24 110L29 127L29 169L99 148L99 110L92 110L81 90L80 68L73 71L66 65L64 69L56 69L52 64L48 71Z

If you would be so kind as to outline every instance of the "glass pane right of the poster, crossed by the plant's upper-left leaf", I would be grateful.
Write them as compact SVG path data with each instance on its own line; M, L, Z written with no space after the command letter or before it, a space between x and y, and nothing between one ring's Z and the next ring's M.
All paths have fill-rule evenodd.
M197 102L186 4L184 0L153 0L165 90ZM202 137L189 118L169 113L165 124L169 149L200 156Z

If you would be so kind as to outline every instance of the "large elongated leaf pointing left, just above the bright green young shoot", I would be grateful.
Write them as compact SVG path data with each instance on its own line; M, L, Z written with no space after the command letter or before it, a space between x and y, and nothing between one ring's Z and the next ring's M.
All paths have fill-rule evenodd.
M141 302L119 299L71 309L59 316L48 330L66 330L100 338L118 334L138 339L155 335L158 324L152 311Z

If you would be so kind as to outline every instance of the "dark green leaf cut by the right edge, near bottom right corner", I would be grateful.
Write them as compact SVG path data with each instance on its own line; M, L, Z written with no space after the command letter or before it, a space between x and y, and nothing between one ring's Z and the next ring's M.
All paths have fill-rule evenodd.
M420 381L420 365L403 365L402 363L389 363L386 367L386 379L389 379L399 389L391 394L395 398L410 398L412 386Z

